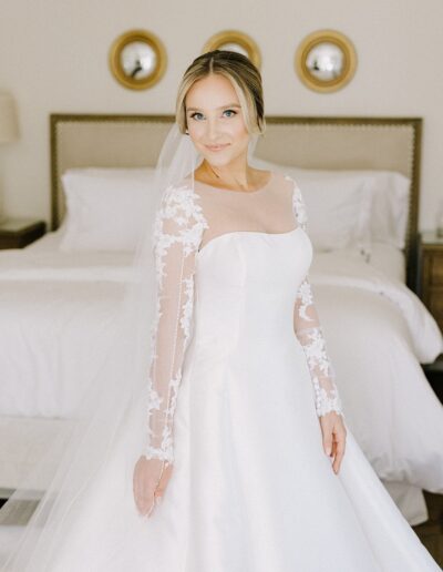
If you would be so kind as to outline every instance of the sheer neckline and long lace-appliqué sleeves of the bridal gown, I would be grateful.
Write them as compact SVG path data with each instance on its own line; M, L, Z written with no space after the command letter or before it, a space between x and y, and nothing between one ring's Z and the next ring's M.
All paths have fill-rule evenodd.
M186 180L166 191L154 225L157 319L152 330L148 376L148 442L144 451L148 459L174 461L174 411L192 337L198 253L222 235L285 234L299 226L307 231L301 192L291 177L277 173L250 193L216 188L198 181L193 191ZM293 331L306 354L317 415L332 410L342 415L308 276L295 293Z

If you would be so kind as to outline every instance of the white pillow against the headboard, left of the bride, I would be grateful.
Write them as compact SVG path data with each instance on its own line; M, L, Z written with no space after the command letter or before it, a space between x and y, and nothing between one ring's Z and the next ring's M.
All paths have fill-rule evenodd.
M154 168L71 168L61 251L134 251L146 229Z

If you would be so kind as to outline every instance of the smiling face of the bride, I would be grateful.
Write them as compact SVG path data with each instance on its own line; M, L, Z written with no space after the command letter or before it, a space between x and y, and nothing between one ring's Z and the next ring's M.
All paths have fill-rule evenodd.
M198 80L185 103L189 137L210 165L246 162L250 137L237 93L227 78L212 74Z

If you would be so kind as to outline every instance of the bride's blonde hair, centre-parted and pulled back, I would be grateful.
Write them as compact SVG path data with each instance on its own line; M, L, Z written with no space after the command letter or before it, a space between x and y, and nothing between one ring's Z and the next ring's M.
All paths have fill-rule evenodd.
M261 74L258 68L238 52L213 50L196 58L185 71L178 86L175 120L179 131L186 133L186 94L198 80L213 73L224 75L233 84L250 134L262 134L266 130Z

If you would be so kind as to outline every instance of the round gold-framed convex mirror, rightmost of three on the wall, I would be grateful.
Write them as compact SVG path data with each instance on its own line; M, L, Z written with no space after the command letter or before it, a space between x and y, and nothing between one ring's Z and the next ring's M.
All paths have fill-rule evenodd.
M357 53L349 38L336 30L307 35L296 52L296 70L309 89L328 93L342 89L356 73Z

